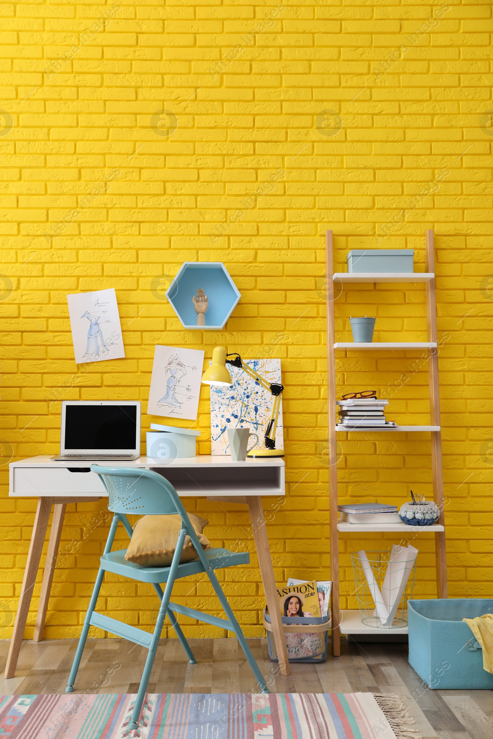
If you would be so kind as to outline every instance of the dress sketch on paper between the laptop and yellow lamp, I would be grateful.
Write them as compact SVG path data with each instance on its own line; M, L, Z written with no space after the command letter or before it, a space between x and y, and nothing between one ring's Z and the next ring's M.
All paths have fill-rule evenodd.
M203 350L157 344L147 412L196 420L203 364Z

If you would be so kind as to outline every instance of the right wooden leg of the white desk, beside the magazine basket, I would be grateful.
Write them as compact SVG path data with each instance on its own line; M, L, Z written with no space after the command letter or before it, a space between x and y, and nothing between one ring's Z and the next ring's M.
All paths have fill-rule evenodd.
M281 614L279 613L279 598L277 596L276 580L274 579L271 549L269 548L269 540L265 529L262 499L259 496L249 495L247 501L251 526L254 530L256 555L259 558L260 574L262 575L262 583L264 585L265 600L267 601L269 615L271 616L272 633L279 657L279 671L281 675L290 675L288 650L286 649Z

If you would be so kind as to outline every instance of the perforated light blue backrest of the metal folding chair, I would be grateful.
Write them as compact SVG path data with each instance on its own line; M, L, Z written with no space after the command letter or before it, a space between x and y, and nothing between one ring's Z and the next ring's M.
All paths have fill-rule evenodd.
M150 469L91 465L108 491L108 508L113 513L155 516L183 514L185 508L171 483Z

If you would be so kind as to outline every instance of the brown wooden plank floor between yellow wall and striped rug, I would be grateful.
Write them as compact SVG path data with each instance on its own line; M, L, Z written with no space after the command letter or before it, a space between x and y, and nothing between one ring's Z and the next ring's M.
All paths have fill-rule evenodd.
M249 639L272 692L358 692L397 694L424 739L493 739L493 691L429 690L409 667L407 644L341 641L341 657L322 664L292 664L277 675L265 639ZM158 648L149 692L258 692L236 639L191 639L197 664L188 664L177 639ZM62 693L77 641L24 641L16 677L3 677L8 641L0 641L0 693ZM89 639L76 693L137 692L147 650L123 639Z

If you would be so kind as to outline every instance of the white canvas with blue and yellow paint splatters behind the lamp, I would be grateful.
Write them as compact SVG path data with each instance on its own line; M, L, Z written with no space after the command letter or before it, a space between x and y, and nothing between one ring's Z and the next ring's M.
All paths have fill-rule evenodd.
M268 382L281 382L280 359L244 359ZM260 437L264 447L264 432L271 419L273 395L248 377L242 369L227 365L233 379L229 387L211 385L211 449L212 454L230 454L226 429L245 428ZM282 401L276 429L276 449L284 447Z

